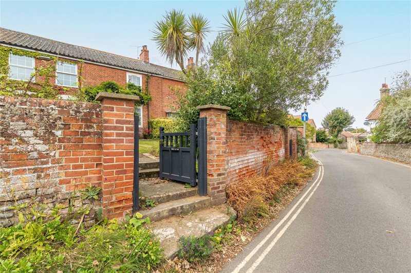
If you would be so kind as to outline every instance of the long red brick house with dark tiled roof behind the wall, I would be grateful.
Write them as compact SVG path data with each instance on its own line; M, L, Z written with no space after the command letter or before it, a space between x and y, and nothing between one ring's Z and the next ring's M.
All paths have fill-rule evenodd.
M133 82L141 86L143 92L148 87L152 100L139 108L140 133L148 129L149 119L172 116L175 95L170 87L177 87L182 91L185 89L181 71L152 64L147 46L141 49L140 58L134 59L0 28L0 47L10 48L8 65L11 79L28 78L34 72L34 67L46 65L52 56L59 59L55 85L68 87L69 93L76 91L80 71L84 86L97 86L103 81L111 80L123 87L127 82ZM13 49L20 50L20 54L12 54ZM21 56L22 50L40 55ZM35 80L42 79L39 77ZM62 97L66 98L67 95L70 94Z

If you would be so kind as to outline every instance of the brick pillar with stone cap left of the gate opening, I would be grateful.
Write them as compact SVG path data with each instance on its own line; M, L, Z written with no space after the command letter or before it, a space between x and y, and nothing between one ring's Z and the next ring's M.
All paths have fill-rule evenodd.
M134 104L138 96L100 92L103 118L103 214L132 214L134 167Z

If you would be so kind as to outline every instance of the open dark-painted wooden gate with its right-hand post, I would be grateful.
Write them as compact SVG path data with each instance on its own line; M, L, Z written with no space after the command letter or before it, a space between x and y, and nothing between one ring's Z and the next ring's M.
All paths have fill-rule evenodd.
M191 124L189 132L164 133L164 127L160 127L160 178L190 183L191 186L198 183L199 195L207 195L205 117L197 124Z

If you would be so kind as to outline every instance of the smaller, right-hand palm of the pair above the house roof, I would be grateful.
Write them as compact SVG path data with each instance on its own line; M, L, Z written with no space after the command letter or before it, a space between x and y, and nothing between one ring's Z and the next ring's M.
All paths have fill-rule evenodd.
M210 22L201 14L192 14L189 17L190 48L196 50L196 66L198 55L204 51L204 37L210 32Z

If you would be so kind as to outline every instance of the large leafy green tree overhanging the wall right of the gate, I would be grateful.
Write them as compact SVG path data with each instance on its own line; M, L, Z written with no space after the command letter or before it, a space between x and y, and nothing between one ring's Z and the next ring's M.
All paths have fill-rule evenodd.
M229 11L223 31L194 72L179 115L200 104L232 109L230 118L285 125L288 110L319 99L339 58L341 26L332 1L260 1ZM186 119L185 119L186 120Z

